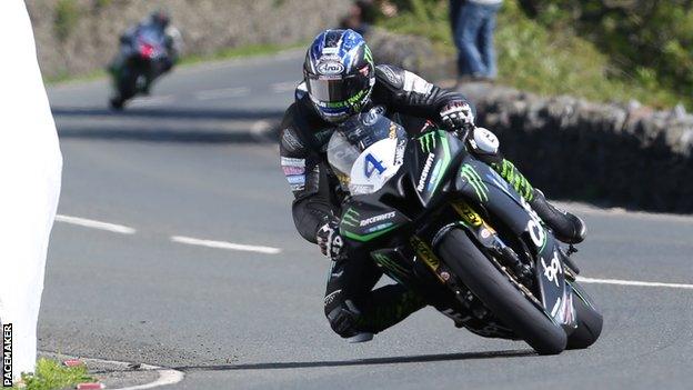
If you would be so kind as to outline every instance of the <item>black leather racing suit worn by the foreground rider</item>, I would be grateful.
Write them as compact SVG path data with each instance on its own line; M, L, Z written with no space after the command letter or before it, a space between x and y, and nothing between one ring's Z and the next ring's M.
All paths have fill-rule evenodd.
M465 101L460 93L435 87L393 66L378 66L375 78L371 103L364 110L383 106L388 116L401 116L405 129L421 129L426 119L439 120L444 106ZM325 152L334 126L315 112L301 84L281 129L281 166L295 197L293 220L299 233L315 242L318 230L341 214L343 193ZM486 153L486 157L489 162L502 160L498 153ZM373 290L381 276L380 269L364 253L349 253L348 259L332 263L324 309L332 329L340 336L376 333L425 306L420 296L400 284Z

